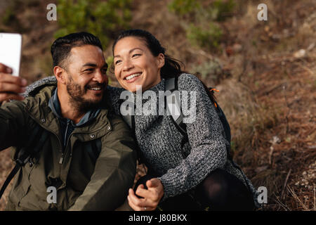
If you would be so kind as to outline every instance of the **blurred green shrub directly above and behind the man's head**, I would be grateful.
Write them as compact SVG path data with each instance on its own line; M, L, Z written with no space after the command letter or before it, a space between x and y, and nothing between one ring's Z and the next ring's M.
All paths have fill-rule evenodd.
M115 32L129 27L130 8L131 0L58 0L60 29L55 32L55 38L86 31L98 36L106 46Z

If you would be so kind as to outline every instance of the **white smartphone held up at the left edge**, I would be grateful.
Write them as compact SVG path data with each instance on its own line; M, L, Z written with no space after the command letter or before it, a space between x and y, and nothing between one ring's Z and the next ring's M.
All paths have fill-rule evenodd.
M0 33L0 63L13 70L12 75L20 75L22 35Z

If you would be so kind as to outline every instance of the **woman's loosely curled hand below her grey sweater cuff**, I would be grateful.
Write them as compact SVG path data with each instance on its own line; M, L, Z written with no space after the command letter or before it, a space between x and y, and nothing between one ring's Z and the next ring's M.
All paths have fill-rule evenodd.
M129 189L129 206L135 211L152 211L157 208L160 200L164 196L164 186L162 181L157 178L150 179L146 182L148 189L140 184L136 190L136 194L143 198L138 198L133 189Z

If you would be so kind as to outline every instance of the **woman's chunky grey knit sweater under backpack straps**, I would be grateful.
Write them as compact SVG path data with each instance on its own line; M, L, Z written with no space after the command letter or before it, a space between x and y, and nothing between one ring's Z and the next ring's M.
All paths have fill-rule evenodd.
M44 84L54 84L55 78L48 77L27 87L29 91L39 89ZM158 96L158 91L164 91L165 80L152 87ZM251 181L235 167L235 162L228 160L225 144L225 133L220 123L216 109L211 104L209 96L204 91L202 82L194 75L183 74L178 78L178 90L196 91L196 119L187 123L189 142L181 149L183 135L173 124L171 117L159 115L136 115L135 133L138 146L145 164L150 167L162 181L164 198L180 195L201 183L204 178L217 168L225 169L235 175L245 185L251 188L255 203L257 193ZM121 91L124 89L107 87L113 110L119 114ZM143 100L145 103L146 100ZM158 101L157 101L158 103ZM189 104L190 105L190 101ZM144 109L143 109L144 110ZM158 105L157 105L158 110ZM144 111L143 111L143 114ZM183 154L184 153L184 154ZM185 157L183 157L185 155Z

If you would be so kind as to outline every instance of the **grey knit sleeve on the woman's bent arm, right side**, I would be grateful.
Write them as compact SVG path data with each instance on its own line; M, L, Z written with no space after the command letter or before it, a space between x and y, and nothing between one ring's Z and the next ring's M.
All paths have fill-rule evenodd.
M180 165L159 177L164 186L164 198L180 195L200 184L213 170L223 168L227 160L223 125L216 108L206 94L202 82L194 75L183 74L178 79L181 101L187 92L190 107L196 106L186 122L191 152ZM196 101L191 100L196 95ZM192 105L190 105L192 103ZM185 113L184 113L185 114ZM192 116L192 115L191 115ZM188 117L186 117L188 119ZM193 118L193 119L192 119ZM185 120L183 120L185 122Z

